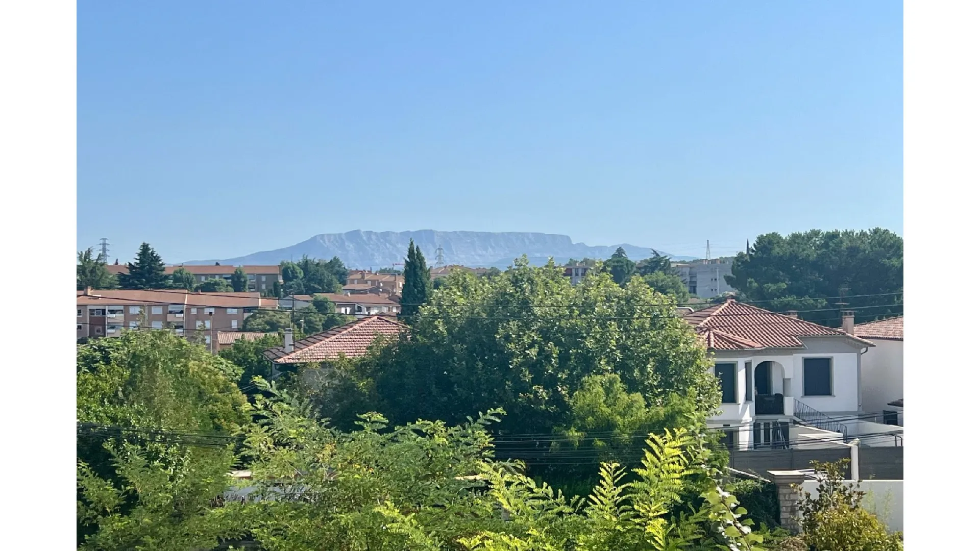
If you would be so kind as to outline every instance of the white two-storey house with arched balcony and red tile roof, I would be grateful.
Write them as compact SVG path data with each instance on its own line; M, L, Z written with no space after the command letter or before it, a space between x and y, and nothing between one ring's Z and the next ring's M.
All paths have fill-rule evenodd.
M726 429L732 447L795 445L794 425L846 434L863 411L862 354L872 342L734 299L684 319L713 356L722 404L709 425Z

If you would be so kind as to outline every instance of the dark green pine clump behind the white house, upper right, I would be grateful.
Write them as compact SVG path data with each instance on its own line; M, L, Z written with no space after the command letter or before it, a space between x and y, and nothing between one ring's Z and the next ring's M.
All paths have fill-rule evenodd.
M847 294L856 308L858 323L902 313L903 250L901 236L882 228L871 230L811 229L791 233L766 233L756 239L749 254L739 253L732 275L725 280L743 300L774 301L770 310L798 310L801 317L828 325L826 312L836 297ZM846 293L842 293L844 288ZM862 296L864 295L864 296Z

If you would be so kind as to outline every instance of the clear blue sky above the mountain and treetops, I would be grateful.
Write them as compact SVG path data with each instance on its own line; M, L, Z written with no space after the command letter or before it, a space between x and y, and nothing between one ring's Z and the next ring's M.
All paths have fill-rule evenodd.
M78 248L902 232L900 2L475 4L80 3Z

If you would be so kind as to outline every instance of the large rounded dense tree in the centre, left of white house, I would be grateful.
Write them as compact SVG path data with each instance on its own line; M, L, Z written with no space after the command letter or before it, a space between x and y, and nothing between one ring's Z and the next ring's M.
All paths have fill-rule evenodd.
M572 286L562 274L518 260L493 278L445 277L411 338L358 363L360 384L376 392L371 409L396 423L458 423L463 412L499 406L510 412L502 430L549 433L569 426L569 399L583 378L601 374L617 374L650 405L676 395L702 415L717 406L706 351L674 316L672 299L639 279L622 288L604 275Z

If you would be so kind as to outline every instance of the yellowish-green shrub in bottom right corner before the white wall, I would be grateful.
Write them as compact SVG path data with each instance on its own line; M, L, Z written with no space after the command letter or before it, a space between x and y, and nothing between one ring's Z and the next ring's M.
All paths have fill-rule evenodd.
M902 533L888 533L877 517L861 507L864 492L844 479L846 463L814 463L820 479L817 495L806 492L800 503L805 540L816 549L901 551Z

